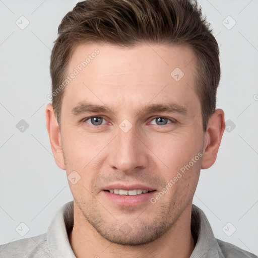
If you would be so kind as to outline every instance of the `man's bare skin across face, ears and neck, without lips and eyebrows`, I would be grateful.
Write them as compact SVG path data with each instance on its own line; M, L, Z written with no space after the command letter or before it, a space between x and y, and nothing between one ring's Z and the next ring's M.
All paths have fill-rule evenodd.
M61 128L52 105L46 106L55 162L67 175L76 171L81 177L76 184L69 181L74 197L71 246L79 258L189 257L195 247L190 232L192 198L200 170L216 160L225 129L224 112L217 109L203 131L195 92L197 64L189 47L80 45L70 60L68 75L96 48L99 54L65 88ZM184 73L179 81L170 75L175 68ZM73 108L83 101L112 112L73 114ZM144 110L170 102L186 112ZM104 120L92 125L91 116ZM157 125L157 117L168 120ZM132 125L126 133L119 127L124 119ZM103 194L105 186L116 182L142 183L158 193L198 153L202 158L155 204L148 200L123 206Z

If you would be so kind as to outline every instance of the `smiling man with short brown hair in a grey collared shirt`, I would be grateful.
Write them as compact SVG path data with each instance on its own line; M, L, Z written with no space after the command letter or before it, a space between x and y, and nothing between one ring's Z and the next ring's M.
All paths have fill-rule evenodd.
M197 4L88 0L58 33L46 127L74 202L0 257L255 257L192 205L225 128L219 49Z

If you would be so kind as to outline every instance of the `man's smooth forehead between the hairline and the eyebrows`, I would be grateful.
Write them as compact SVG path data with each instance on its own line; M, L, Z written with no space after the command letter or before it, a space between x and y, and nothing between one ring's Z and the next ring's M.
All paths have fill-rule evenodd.
M138 103L175 101L190 107L198 99L194 87L196 58L188 46L140 44L78 46L69 62L69 84L63 101L132 108ZM73 79L71 80L71 75ZM69 104L69 105L70 105Z

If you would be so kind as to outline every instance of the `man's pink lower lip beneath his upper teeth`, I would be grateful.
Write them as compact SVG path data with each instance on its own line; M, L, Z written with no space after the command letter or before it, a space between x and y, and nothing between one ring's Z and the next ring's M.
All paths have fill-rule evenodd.
M150 202L150 199L156 194L156 191L141 193L141 195L136 196L124 196L116 195L109 191L102 191L104 196L111 202L120 205L120 206L137 206Z

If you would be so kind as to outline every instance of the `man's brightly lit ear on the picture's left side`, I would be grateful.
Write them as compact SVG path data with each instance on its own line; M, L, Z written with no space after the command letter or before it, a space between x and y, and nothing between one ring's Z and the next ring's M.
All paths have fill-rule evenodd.
M48 132L51 150L54 156L55 163L60 169L66 170L62 152L61 134L58 123L55 118L54 109L51 103L48 103L46 105L45 116L46 129Z

